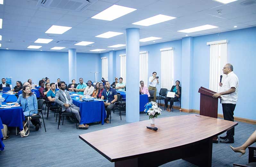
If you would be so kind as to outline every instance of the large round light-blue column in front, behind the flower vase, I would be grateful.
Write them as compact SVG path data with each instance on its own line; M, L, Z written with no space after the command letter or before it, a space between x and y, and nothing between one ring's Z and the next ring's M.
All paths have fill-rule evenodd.
M140 121L140 29L126 29L126 122Z

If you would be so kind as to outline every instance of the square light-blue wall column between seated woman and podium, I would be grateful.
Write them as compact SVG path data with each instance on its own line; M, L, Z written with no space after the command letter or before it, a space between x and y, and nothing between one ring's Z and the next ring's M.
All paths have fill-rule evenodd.
M192 109L193 84L193 37L182 39L182 68L181 68L182 97L181 107Z

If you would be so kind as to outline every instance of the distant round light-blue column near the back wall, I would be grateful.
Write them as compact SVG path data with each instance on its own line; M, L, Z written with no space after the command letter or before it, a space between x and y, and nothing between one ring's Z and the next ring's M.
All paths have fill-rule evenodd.
M68 83L76 80L76 49L68 49Z

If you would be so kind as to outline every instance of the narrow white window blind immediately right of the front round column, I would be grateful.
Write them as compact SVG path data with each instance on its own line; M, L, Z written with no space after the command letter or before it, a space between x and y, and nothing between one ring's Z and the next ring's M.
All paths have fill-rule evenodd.
M140 53L140 81L148 85L148 52Z

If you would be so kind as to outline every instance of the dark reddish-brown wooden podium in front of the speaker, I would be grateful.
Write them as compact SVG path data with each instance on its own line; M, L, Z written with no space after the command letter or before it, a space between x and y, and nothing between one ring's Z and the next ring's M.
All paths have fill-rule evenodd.
M200 93L200 115L218 118L218 98L212 96L217 93L212 90L200 87L198 92ZM213 138L213 143L218 143L218 137Z

